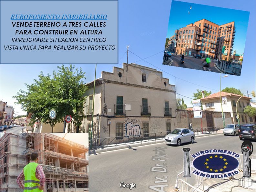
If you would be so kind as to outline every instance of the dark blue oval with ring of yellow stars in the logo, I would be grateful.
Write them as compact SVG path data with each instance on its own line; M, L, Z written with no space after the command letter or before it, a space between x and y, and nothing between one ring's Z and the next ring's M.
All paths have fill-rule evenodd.
M194 159L193 166L205 173L220 174L236 169L239 161L230 155L211 153Z

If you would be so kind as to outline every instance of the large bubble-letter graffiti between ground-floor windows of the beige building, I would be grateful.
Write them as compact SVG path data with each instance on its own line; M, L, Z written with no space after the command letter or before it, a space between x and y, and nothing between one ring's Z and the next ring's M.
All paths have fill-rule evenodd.
M138 139L141 136L141 120L126 118L124 120L124 134L129 140Z

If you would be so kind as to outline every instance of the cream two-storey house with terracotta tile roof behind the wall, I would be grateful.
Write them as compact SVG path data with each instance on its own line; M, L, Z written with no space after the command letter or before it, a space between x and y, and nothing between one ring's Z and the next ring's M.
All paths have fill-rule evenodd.
M232 93L226 93L221 91L222 97L222 109L223 112L230 112L232 123L238 123L238 119L236 118L236 102L241 97L241 95L236 95ZM243 109L250 105L250 97L243 96L237 106L237 111L240 116L240 123L255 123L255 117L249 117L244 114ZM207 111L219 111L221 112L221 103L220 103L220 92L211 94L210 96L204 97L201 99L203 110Z

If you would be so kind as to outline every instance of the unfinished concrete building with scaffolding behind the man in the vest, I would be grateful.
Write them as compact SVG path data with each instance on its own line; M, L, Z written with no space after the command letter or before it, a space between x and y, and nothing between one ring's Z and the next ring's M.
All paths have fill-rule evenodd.
M88 191L87 147L49 133L5 133L0 138L0 192L23 192L16 179L33 152L46 176L44 192Z

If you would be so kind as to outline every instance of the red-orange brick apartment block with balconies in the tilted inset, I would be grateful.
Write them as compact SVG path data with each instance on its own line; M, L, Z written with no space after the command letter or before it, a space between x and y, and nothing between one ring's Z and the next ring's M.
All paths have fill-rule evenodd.
M234 38L234 22L217 25L202 19L175 30L175 53L228 60L232 54ZM225 49L224 54L221 54L222 48Z

